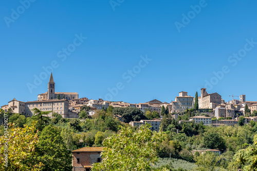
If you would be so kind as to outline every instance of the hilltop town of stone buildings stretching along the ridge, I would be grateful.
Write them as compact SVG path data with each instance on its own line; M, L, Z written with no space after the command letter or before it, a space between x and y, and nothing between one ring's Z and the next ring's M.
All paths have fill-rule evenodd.
M56 84L53 80L52 73L48 82L47 92L38 95L35 101L19 101L13 98L8 104L1 106L4 111L11 109L13 113L20 113L26 116L33 115L33 109L38 108L41 111L48 111L49 117L52 112L60 114L63 118L78 118L79 112L88 106L90 110L87 110L88 116L93 116L96 110L107 109L110 105L114 108L126 108L132 107L145 112L146 110L157 113L161 113L161 108L164 106L168 109L169 113L172 113L174 119L178 118L180 113L185 112L187 109L193 109L195 103L195 97L188 95L188 92L179 92L178 96L175 97L174 101L161 102L157 99L144 102L144 103L127 103L123 101L110 102L103 99L88 99L86 97L79 98L79 94L76 92L56 92ZM246 95L237 96L240 100L233 99L229 102L225 102L222 96L218 93L208 94L205 88L201 89L200 95L198 96L198 107L199 110L205 110L207 116L195 116L189 118L189 120L180 120L179 122L194 122L200 123L203 121L205 125L234 125L237 124L238 116L245 115L245 106L251 113L257 110L257 101L246 101ZM115 116L120 121L123 121L121 116ZM211 121L211 117L224 119L218 121ZM228 118L229 119L226 119ZM245 117L246 123L250 120L256 121L256 117ZM138 122L131 122L131 125L141 125L144 123L150 123L152 130L158 131L160 120L141 120Z

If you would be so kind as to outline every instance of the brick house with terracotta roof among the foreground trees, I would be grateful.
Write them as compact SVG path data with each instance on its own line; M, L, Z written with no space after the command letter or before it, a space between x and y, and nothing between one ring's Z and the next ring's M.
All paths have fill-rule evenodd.
M101 162L104 147L83 147L72 151L72 171L90 171L94 163Z

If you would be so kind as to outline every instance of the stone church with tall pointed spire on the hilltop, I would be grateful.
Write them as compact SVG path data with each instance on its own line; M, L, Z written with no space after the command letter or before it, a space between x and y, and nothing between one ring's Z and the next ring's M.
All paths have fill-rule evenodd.
M51 100L51 99L78 99L78 93L68 93L68 92L56 92L56 83L53 81L52 73L48 82L48 90L45 93L38 95L38 100Z

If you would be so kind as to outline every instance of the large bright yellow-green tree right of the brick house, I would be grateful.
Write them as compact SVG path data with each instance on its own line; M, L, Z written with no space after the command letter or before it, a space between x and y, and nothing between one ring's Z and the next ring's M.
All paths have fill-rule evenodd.
M161 132L153 132L150 125L139 127L133 133L131 127L122 127L119 134L114 134L103 141L103 160L93 164L92 171L108 170L151 170L151 164L158 161L156 148L165 137Z

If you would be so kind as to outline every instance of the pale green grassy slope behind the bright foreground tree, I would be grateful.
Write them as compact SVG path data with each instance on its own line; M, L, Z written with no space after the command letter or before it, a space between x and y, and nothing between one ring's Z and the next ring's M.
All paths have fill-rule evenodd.
M193 168L196 166L194 163L190 163L186 160L171 158L172 166L174 168L183 168L188 170L193 170ZM156 163L155 167L160 167L162 165L170 163L170 158L159 158L159 162Z

